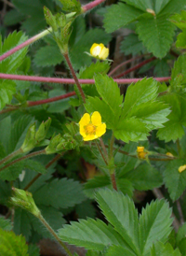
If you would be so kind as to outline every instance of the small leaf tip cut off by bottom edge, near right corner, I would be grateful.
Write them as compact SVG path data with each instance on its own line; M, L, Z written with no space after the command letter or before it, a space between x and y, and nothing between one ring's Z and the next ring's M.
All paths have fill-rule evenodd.
M153 245L151 250L151 256L181 256L179 249L173 249L172 246L168 243L164 245L161 242L157 242Z

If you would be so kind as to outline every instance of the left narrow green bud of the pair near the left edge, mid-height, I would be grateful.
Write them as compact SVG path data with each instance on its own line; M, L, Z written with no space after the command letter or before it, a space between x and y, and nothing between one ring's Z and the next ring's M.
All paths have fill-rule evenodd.
M22 150L23 153L26 153L31 149L33 149L34 146L35 146L35 123L33 123L30 126L20 149Z

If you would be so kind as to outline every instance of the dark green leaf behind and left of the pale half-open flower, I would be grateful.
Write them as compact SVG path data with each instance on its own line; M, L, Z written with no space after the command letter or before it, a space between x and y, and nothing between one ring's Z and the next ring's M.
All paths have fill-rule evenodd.
M91 29L81 39L73 45L69 50L71 61L74 69L80 69L84 65L91 64L91 58L85 53L89 52L93 43L102 43L107 45L111 40L111 36L103 30L96 28Z

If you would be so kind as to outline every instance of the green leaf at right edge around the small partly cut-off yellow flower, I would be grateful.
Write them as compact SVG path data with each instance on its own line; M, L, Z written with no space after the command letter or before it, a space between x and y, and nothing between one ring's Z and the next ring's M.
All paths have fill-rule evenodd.
M174 160L166 165L164 181L170 198L175 201L186 188L186 172L179 173L179 166L185 164L184 160Z

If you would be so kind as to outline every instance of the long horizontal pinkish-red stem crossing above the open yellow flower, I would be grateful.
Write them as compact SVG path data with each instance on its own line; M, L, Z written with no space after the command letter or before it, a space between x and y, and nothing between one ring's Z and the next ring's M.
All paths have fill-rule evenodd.
M48 83L67 83L74 84L75 80L72 78L45 78L45 77L31 77L24 75L12 75L12 74L4 74L0 73L0 78L2 79L10 79L10 80L23 80L23 81L35 81L35 82L48 82ZM113 79L118 84L129 84L132 82L138 82L143 78L123 78L123 79ZM153 78L157 81L163 82L171 79L170 77L165 78ZM79 82L82 84L94 84L94 79L79 79Z

